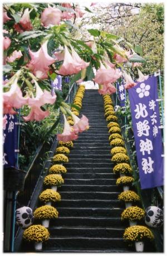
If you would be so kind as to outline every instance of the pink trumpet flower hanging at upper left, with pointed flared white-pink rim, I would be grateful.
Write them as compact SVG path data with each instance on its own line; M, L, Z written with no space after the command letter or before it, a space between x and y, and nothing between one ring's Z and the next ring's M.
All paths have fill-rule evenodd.
M41 46L41 48L32 52L29 49L29 53L31 56L31 61L28 62L27 66L36 75L39 79L45 79L48 77L47 72L49 70L49 65L55 62L50 55L47 53L47 41Z

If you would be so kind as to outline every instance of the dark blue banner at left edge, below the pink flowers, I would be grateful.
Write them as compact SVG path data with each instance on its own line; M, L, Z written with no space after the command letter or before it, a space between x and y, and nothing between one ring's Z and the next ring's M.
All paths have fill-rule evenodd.
M4 168L9 166L16 167L17 161L17 132L18 125L16 115L4 115L7 117L6 122L3 125L3 166Z

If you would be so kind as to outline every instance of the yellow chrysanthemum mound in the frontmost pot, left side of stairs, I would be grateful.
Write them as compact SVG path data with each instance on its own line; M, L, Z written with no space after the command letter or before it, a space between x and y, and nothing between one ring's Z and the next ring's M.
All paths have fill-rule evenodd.
M27 241L34 241L36 243L40 241L46 241L50 237L48 230L42 225L32 225L24 230L23 238Z

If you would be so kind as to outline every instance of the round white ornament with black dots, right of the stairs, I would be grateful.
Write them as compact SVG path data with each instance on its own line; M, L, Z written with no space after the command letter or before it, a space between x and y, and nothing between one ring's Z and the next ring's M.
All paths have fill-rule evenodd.
M157 206L149 206L145 210L145 224L151 228L159 228L163 225L163 210Z

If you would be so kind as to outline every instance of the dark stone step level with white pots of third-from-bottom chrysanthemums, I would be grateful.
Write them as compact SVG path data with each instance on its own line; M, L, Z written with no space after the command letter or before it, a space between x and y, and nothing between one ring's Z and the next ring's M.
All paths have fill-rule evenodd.
M54 205L54 203L52 203ZM125 209L124 202L119 200L84 200L84 199L77 199L77 200L61 200L60 202L55 203L56 207L120 207Z

